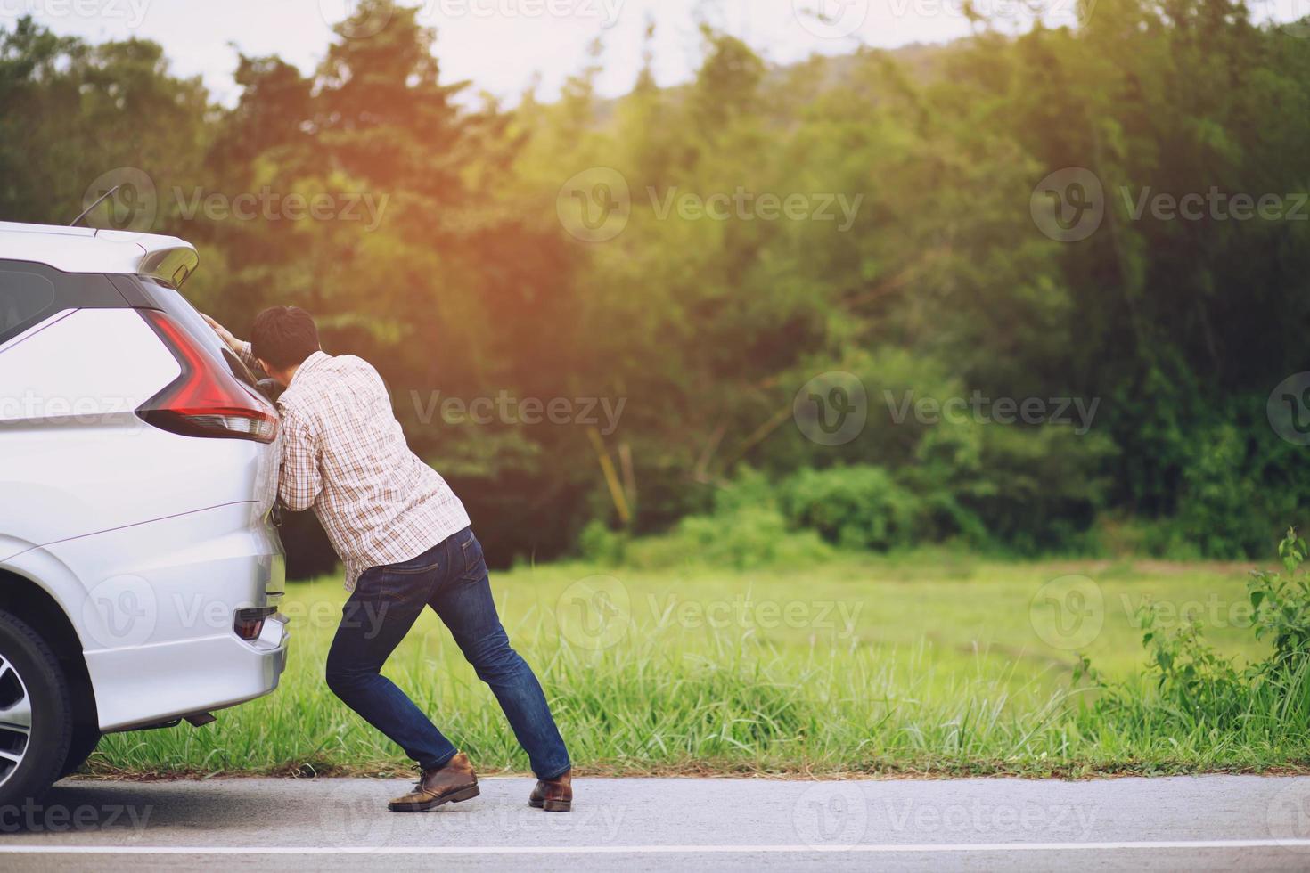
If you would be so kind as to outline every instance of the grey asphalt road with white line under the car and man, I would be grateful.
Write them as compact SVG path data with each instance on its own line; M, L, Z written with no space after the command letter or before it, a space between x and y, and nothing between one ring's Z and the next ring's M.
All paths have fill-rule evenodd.
M407 785L64 781L0 810L0 869L1310 868L1310 777L579 779L569 814L485 779L472 801L388 813Z

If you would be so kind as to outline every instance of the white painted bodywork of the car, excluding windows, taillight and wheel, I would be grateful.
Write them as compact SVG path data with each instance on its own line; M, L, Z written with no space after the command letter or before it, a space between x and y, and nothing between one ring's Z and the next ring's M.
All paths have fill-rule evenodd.
M0 223L0 293L16 283L18 318L0 343L0 586L26 580L63 610L102 732L250 700L286 666L283 616L252 640L234 627L284 589L280 442L182 436L136 414L182 368L134 309L156 308L151 294L122 288L169 270L177 284L194 255L173 237ZM45 284L24 309L29 280ZM79 294L85 306L67 302ZM169 318L212 334L168 294ZM221 365L216 338L196 340Z

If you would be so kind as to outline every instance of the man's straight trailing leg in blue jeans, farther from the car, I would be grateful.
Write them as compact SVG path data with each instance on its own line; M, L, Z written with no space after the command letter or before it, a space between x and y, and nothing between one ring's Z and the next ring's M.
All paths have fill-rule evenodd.
M458 644L464 657L500 702L519 745L528 753L538 779L569 771L569 750L550 715L550 705L532 668L510 648L491 597L482 546L472 530L447 543L447 571L430 601Z

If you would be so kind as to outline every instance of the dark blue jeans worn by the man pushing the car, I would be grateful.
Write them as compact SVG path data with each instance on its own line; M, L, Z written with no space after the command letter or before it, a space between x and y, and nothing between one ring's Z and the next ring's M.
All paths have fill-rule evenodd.
M457 749L414 705L383 665L424 606L441 618L464 657L500 702L538 779L569 770L569 751L532 668L510 648L491 598L482 546L472 527L413 560L371 567L342 607L328 650L328 687L423 770L441 767Z

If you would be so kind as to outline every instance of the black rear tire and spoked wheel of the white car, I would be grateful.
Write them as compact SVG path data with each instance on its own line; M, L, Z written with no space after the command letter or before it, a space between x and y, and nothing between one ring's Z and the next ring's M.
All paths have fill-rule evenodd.
M0 809L35 801L59 779L73 733L73 708L59 658L18 618L0 611L0 709L26 695L31 730L0 726L0 749L21 753L17 764L0 759Z

